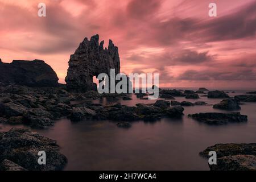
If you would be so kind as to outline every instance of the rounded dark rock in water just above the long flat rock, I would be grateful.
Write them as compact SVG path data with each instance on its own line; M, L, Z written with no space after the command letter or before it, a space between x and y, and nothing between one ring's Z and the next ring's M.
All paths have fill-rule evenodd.
M233 98L222 100L218 104L213 105L214 109L223 109L223 110L240 110L239 101Z

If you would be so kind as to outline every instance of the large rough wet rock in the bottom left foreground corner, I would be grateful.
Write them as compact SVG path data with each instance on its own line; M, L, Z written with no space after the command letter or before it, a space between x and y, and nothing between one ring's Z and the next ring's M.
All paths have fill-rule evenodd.
M0 136L0 163L7 159L35 171L61 170L67 164L67 158L60 154L55 140L26 129L11 129ZM46 165L38 164L39 151L46 152Z

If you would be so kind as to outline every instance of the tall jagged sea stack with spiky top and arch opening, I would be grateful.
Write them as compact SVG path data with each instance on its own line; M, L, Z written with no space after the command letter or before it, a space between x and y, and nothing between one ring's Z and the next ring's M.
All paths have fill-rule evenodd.
M110 69L115 69L115 74L120 72L118 48L114 46L112 40L109 40L108 49L104 49L104 41L99 44L98 40L98 35L92 36L90 40L85 38L71 55L68 75L65 78L69 91L96 90L93 76L106 73L110 78Z

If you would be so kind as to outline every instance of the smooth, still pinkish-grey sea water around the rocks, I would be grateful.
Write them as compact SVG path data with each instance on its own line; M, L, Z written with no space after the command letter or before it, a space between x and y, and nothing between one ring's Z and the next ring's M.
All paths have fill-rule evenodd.
M238 90L229 95L244 93ZM132 97L133 100L119 102L129 106L155 102ZM221 101L207 97L197 100L176 97L176 101L184 100L205 101L208 104ZM187 118L193 113L223 112L213 109L212 105L184 106L184 109L182 119L133 122L130 129L118 128L111 121L73 123L60 119L51 129L34 131L57 140L61 152L68 158L65 170L209 170L208 160L199 156L199 152L206 147L216 143L256 142L256 103L241 105L240 112L248 116L247 123L225 126L209 126ZM13 127L0 126L1 131Z

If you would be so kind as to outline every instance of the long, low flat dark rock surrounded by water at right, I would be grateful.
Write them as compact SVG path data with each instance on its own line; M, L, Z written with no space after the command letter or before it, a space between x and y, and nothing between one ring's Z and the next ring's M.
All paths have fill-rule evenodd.
M224 125L233 122L247 122L247 115L240 113L197 113L189 114L188 117L209 125Z

